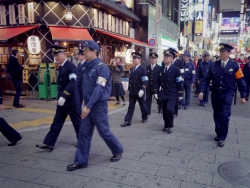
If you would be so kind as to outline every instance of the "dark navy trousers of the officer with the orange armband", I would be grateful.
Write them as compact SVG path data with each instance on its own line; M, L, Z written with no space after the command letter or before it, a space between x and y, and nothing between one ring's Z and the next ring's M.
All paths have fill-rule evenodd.
M226 140L231 116L231 106L234 93L211 94L211 101L214 110L215 132L220 140Z

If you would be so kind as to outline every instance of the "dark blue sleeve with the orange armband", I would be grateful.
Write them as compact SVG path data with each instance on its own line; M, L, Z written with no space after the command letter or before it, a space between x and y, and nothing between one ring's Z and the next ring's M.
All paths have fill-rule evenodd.
M244 75L239 66L235 68L235 78L238 85L241 98L246 98L247 95L247 85L244 79Z

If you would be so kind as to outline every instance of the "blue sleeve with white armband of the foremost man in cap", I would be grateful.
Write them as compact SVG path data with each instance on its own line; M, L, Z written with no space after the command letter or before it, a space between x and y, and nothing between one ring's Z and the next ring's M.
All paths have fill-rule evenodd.
M89 102L86 104L88 108L92 108L94 104L100 99L100 97L104 94L105 92L105 86L107 81L110 79L111 74L106 65L102 65L97 68L98 69L98 78L96 81L96 86L95 89L89 99Z

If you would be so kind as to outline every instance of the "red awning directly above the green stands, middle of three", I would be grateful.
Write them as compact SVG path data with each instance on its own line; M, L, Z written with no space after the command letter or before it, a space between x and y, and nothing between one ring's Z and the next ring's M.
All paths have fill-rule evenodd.
M49 26L53 41L75 41L93 40L85 28Z

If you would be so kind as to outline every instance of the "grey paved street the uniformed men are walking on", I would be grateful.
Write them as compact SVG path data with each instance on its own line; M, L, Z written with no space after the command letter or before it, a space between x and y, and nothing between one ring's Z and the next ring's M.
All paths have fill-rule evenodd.
M37 101L30 103L35 107ZM218 148L213 141L211 105L199 107L197 98L193 96L191 107L180 110L171 135L161 131L163 120L156 110L146 124L141 124L137 106L132 126L126 128L121 128L120 123L127 107L111 110L110 128L125 148L122 160L110 162L111 152L95 131L89 167L74 172L66 171L66 166L74 160L76 150L70 121L63 127L53 152L35 147L42 143L49 130L46 123L20 129L23 139L15 147L6 146L8 141L0 135L0 187L235 188L217 174L217 167L229 161L250 161L249 107L249 102L245 106L239 103L233 106L224 148ZM153 108L156 109L156 106ZM12 115L6 119L18 122L17 110L9 111ZM31 112L25 113L29 117ZM38 116L43 118L39 113L36 118Z

